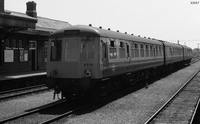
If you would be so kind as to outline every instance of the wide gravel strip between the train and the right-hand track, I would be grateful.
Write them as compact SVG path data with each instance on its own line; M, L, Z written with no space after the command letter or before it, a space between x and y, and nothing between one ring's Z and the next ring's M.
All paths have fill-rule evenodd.
M160 106L200 68L197 62L154 82L149 88L133 92L104 107L84 115L65 118L66 124L143 124Z

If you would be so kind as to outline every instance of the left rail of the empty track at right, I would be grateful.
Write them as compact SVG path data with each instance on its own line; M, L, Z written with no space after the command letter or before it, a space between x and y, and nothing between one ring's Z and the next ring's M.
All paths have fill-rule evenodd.
M178 91L176 91L176 93L164 104L162 105L159 110L157 110L144 124L149 124L184 88L185 86L200 72L200 70L198 70L197 72L193 73L192 76L190 76L190 78L186 81L185 84L183 84L183 86L181 88L179 88Z

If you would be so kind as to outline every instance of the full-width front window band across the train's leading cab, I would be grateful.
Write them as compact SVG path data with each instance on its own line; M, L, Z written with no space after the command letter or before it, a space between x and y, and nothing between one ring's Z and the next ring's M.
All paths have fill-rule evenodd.
M79 62L95 58L95 37L67 36L51 41L51 61Z

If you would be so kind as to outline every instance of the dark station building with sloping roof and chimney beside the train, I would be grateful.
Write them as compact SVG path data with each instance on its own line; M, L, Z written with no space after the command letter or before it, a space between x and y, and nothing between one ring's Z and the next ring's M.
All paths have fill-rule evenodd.
M26 13L9 11L0 0L0 75L45 71L50 34L71 26L37 16L33 1L26 6Z

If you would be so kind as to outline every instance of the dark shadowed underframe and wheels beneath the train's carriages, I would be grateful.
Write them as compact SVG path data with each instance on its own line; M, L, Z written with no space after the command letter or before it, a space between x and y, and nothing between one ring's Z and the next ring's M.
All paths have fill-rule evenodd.
M185 64L189 64L189 62L189 60L177 62L102 79L91 79L89 77L81 79L54 78L49 80L51 83L48 82L48 85L54 88L56 93L61 93L65 98L104 96L128 86L140 84L148 86L155 78L161 78L182 68Z

